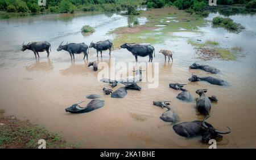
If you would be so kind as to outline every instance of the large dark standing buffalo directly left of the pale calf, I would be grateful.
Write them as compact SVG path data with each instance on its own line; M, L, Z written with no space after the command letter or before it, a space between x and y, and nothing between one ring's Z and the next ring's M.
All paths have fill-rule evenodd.
M126 43L120 47L129 50L135 56L136 62L138 62L138 56L146 57L147 55L149 56L148 62L152 62L153 52L155 57L155 49L151 45L131 45Z

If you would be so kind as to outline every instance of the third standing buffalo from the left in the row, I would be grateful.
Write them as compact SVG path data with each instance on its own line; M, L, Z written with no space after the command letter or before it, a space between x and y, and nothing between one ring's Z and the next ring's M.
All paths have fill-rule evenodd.
M110 40L105 40L105 41L99 41L96 44L93 42L90 42L90 48L93 47L97 51L97 57L98 57L98 51L101 52L101 57L102 57L102 50L109 50L109 55L111 55L111 50L114 49L114 45Z

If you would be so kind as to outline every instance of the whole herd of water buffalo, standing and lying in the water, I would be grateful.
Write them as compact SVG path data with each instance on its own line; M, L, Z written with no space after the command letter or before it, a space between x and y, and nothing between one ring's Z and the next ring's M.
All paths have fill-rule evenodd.
M101 53L102 57L102 51L109 50L109 55L111 54L111 51L113 50L114 46L113 43L110 40L105 41L99 41L97 43L90 43L90 48L94 48L97 51L97 57L98 52ZM74 54L81 54L84 53L84 59L88 59L88 53L89 48L85 43L71 43L71 44L65 44L63 45L63 42L59 45L57 48L57 51L65 50L69 53L71 56L71 59L75 59ZM152 62L153 59L153 53L155 57L155 49L151 45L139 45L139 44L123 44L120 46L122 49L129 50L135 57L136 62L138 62L138 56L139 57L149 57L148 62ZM46 41L40 41L40 42L31 42L27 45L22 45L22 51L25 50L31 50L35 54L35 58L39 58L39 52L46 51L47 57L49 57L49 51L51 51L51 44L49 44ZM170 62L170 59L172 59L172 51L170 50L160 50L159 53L162 53L165 57L168 57L168 62ZM172 59L173 61L173 59ZM93 66L93 70L97 71L97 62L89 62L88 67ZM200 69L204 70L206 72L210 72L213 74L219 73L220 70L217 68L208 66L208 65L200 65L198 63L193 63L189 68L191 69ZM103 83L109 83L110 87L114 88L118 84L125 85L125 87L119 87L117 90L112 90L109 88L103 88L103 92L106 95L111 94L112 98L124 98L127 94L127 90L141 90L142 88L137 85L137 82L142 81L142 70L134 71L135 76L128 78L127 80L110 80L110 79L101 79L100 81ZM214 85L228 85L228 83L224 80L218 79L216 77L208 76L208 77L200 77L193 75L188 79L189 81L207 81L210 84ZM185 84L179 84L179 83L171 83L169 84L169 87L175 90L181 90L181 92L177 95L176 98L178 98L181 101L192 101L192 96L189 90L184 89ZM176 124L179 117L176 115L175 111L171 109L170 107L170 101L154 101L153 105L159 106L162 109L166 108L167 111L165 111L162 116L160 116L160 119L162 119L164 122L171 122L174 124L172 127L174 131L183 137L194 137L201 135L203 142L208 142L210 139L216 139L217 137L222 137L223 134L228 134L231 132L231 129L228 128L228 131L222 132L217 131L211 124L205 122L209 118L210 109L211 109L211 103L217 102L216 96L207 96L207 89L198 89L196 90L196 93L199 94L199 98L196 99L196 108L199 111L199 113L205 115L205 118L203 121L201 120L195 120L193 122L183 122ZM104 106L104 101L102 100L96 100L97 98L100 98L100 95L97 94L90 94L86 96L88 99L93 99L86 105L85 107L80 107L80 103L75 103L71 107L68 107L65 109L65 111L69 113L88 113L90 111L99 109L100 107Z

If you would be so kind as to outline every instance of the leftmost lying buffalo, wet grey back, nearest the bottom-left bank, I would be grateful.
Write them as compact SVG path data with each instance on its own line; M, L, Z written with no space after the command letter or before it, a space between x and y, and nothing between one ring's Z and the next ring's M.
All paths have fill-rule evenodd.
M82 102L80 102L82 103ZM76 103L74 105L72 105L71 107L68 107L67 109L65 109L66 112L69 113L88 113L90 111L99 109L101 107L104 106L105 101L102 100L92 100L88 103L88 105L86 107L80 107L80 103Z

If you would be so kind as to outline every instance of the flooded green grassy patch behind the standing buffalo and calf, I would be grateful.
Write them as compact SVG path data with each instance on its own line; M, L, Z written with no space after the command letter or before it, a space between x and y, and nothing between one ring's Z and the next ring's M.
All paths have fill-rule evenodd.
M138 27L121 27L112 33L117 34L114 39L115 48L124 43L163 43L172 36L172 32L197 32L199 26L205 25L203 16L189 14L175 7L155 8L142 12L148 22Z

